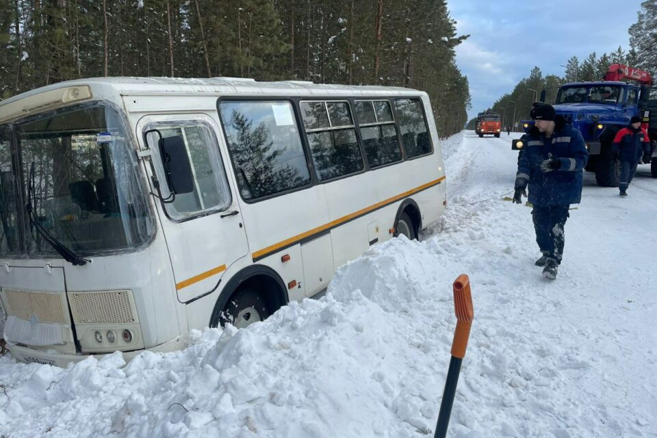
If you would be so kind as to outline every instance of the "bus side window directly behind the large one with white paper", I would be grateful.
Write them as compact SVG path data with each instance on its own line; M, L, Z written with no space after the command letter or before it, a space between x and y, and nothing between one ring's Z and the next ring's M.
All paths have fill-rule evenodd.
M301 102L300 107L320 181L365 168L348 103Z

